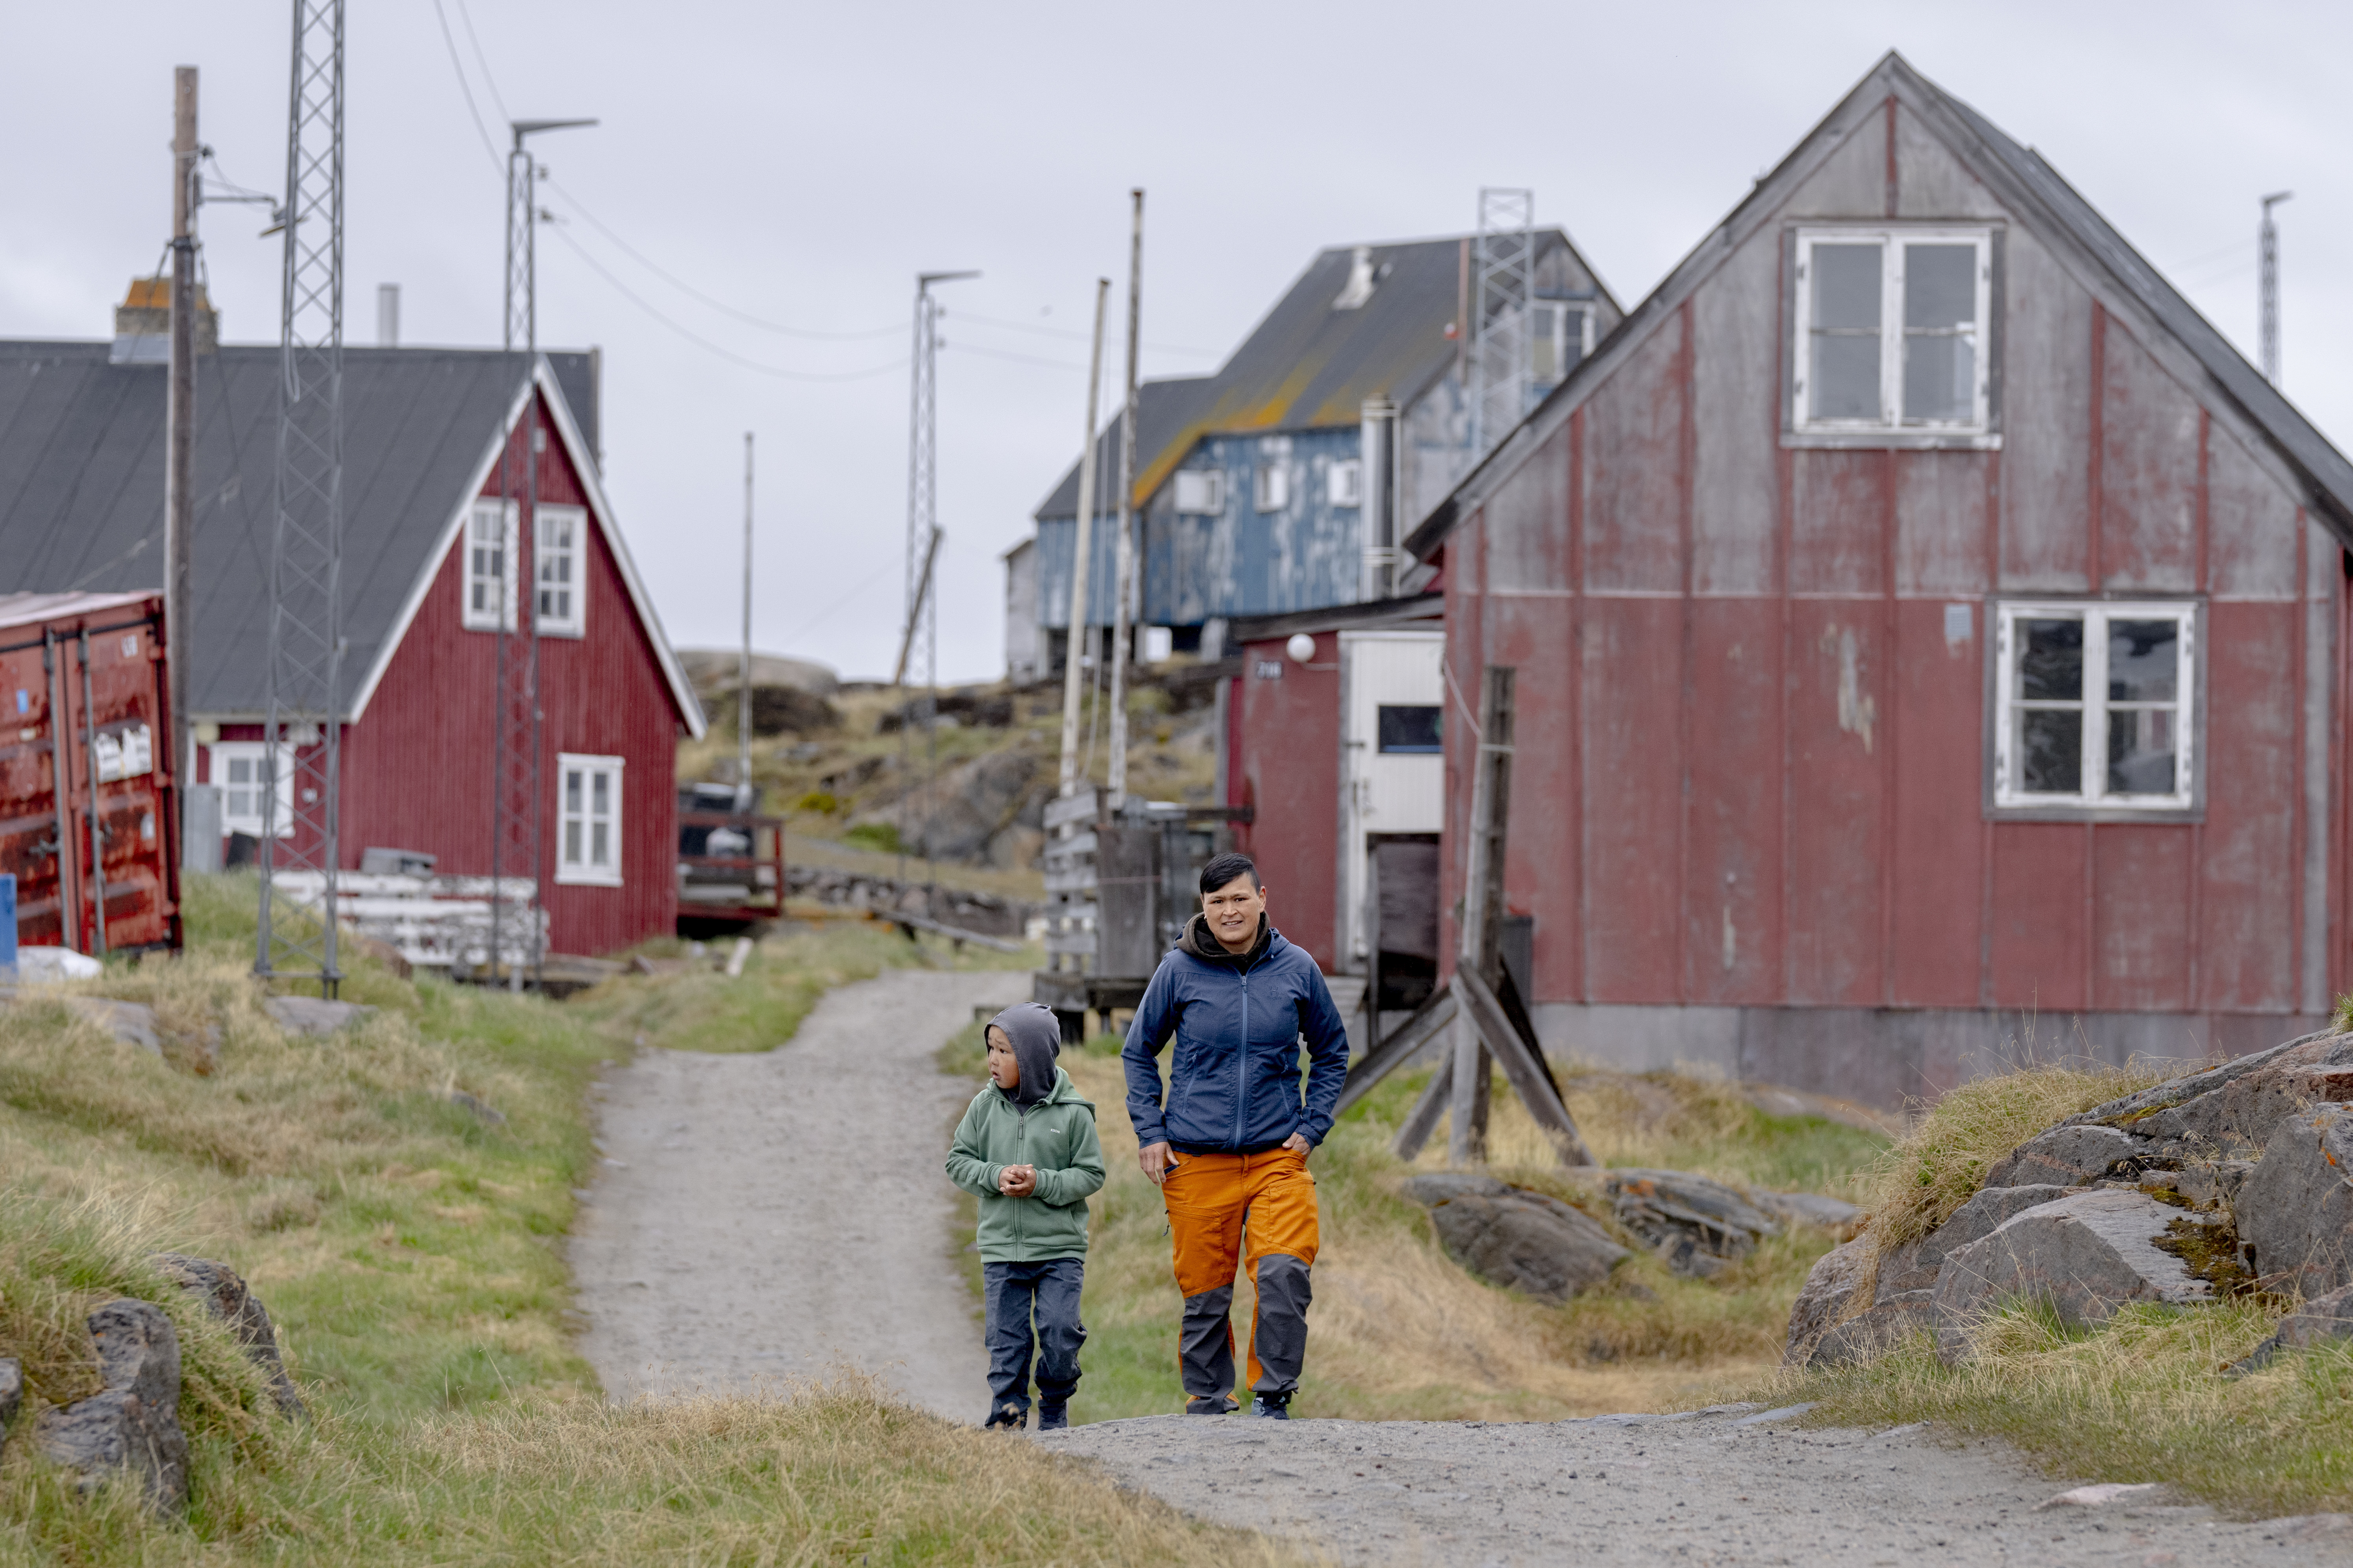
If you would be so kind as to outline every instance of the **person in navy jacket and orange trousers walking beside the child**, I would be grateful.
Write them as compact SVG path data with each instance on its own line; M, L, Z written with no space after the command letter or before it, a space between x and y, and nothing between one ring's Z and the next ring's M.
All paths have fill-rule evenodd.
M1160 1048L1176 1037L1167 1105ZM1308 1041L1306 1098L1299 1037ZM1127 1046L1136 1164L1160 1185L1184 1293L1179 1368L1188 1415L1235 1410L1233 1265L1247 1237L1259 1309L1249 1324L1249 1413L1289 1420L1308 1349L1315 1178L1308 1150L1332 1131L1348 1079L1348 1032L1315 959L1266 924L1249 856L1200 867L1200 914L1160 959Z

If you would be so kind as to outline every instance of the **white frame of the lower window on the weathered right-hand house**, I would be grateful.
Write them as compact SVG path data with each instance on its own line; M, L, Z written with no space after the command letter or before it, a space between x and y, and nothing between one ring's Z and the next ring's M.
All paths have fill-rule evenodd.
M2075 795L2028 792L2019 771L2019 712L2033 708L2068 708L2057 701L2024 701L2017 693L2019 621L2082 621L2082 790ZM2167 703L2111 703L2092 693L2108 691L2108 623L2174 621L2181 630L2174 649L2174 790L2169 795L2108 792L2108 710L2167 708ZM2191 811L2198 804L2198 604L2191 599L2002 599L1995 607L1993 637L1993 806L1995 811Z

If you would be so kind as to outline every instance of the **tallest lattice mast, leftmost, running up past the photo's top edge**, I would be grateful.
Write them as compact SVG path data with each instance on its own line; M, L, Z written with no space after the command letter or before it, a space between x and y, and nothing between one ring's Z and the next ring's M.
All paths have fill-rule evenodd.
M334 997L344 689L344 0L294 0L254 973Z

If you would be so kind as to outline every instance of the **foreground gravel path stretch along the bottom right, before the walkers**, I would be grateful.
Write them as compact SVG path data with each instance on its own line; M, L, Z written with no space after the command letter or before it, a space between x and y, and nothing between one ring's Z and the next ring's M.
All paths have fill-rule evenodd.
M1802 1406L1800 1406L1802 1410ZM1729 1406L1558 1425L1153 1415L1035 1441L1341 1563L2344 1563L2353 1519L2228 1523L2162 1490L2094 1507L1991 1443L1802 1432Z

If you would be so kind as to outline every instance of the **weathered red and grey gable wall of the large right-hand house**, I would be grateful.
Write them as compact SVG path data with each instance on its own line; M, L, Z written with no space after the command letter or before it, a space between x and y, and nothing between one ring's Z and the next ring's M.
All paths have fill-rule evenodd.
M1840 158L1854 169L1786 216L2002 216L1894 110ZM1445 543L1457 689L1475 703L1480 665L1520 670L1504 896L1537 922L1534 999L2064 1016L2334 997L2344 677L2308 668L2327 635L2304 611L2344 663L2346 574L2252 430L2012 219L2002 449L1784 447L1779 244L1774 226L1746 240ZM2085 592L2207 607L2202 820L1988 820L1993 602ZM1965 642L1948 604L1972 607ZM2306 696L2334 726L2322 813ZM1306 766L1299 741L1285 769ZM1468 778L1471 729L1449 722L1449 912ZM2325 978L2304 973L2311 835Z

